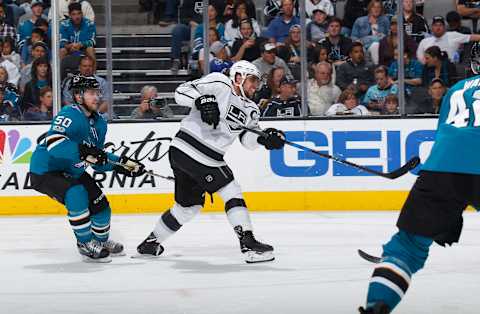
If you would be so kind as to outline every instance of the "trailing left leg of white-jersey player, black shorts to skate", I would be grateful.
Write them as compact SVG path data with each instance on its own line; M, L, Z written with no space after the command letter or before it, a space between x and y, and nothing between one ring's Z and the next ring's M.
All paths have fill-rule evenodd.
M161 245L166 239L193 219L205 203L205 191L187 173L173 168L175 175L175 204L162 214L154 230L137 247L142 255L158 256L163 253Z

